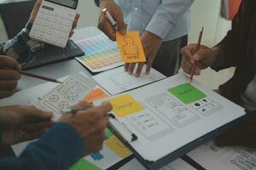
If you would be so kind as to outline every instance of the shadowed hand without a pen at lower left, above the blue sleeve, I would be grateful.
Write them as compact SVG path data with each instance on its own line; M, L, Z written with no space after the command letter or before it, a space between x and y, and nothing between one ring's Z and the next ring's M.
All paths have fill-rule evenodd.
M52 113L34 106L11 105L0 107L0 125L3 144L17 144L37 139L51 127Z

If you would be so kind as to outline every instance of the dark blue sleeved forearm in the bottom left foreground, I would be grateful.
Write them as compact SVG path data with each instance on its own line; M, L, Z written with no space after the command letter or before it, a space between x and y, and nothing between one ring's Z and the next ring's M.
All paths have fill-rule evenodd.
M84 152L79 133L67 123L58 123L37 142L29 144L19 158L0 160L0 169L67 170Z

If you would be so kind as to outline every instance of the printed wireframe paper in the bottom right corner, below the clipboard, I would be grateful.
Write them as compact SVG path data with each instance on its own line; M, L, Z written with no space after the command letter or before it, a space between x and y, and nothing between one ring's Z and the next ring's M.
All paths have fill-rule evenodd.
M218 147L213 141L187 154L207 170L255 170L256 150L245 147Z

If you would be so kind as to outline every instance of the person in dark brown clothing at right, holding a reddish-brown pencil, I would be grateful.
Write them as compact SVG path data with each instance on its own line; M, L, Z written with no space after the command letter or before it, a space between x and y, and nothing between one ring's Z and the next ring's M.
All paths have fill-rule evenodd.
M256 1L241 1L231 30L218 45L201 45L196 53L195 48L196 44L182 48L183 71L190 74L194 64L195 75L209 66L215 71L235 66L234 76L219 87L219 93L252 113L247 122L219 136L217 144L256 147Z

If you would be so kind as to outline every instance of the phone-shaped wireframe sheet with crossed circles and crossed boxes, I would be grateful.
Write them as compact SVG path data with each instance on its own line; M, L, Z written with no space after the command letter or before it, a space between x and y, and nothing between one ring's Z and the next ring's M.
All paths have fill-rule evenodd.
M86 94L96 87L96 83L81 74L74 74L48 94L38 100L35 105L38 109L53 111L54 120L61 116L61 111L84 100Z

